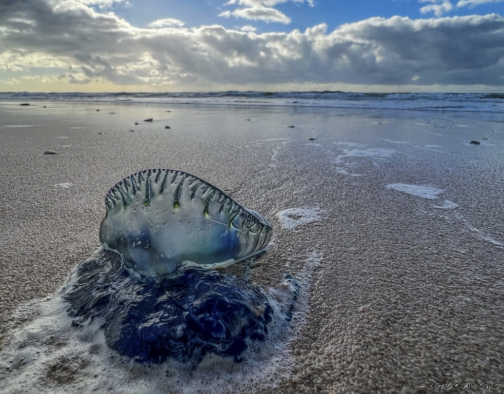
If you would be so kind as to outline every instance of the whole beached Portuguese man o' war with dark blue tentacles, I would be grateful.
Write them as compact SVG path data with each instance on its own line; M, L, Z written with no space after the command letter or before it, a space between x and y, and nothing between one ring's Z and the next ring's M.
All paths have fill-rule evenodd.
M107 345L139 362L233 356L268 333L266 293L227 267L264 252L269 222L194 175L143 170L113 186L103 249L64 290L79 327L99 321Z

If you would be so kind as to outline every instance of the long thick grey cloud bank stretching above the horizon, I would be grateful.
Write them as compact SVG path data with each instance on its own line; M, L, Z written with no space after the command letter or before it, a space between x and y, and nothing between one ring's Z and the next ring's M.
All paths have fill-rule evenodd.
M496 14L375 17L332 32L320 24L304 32L257 34L218 25L142 29L75 4L0 0L0 71L47 67L61 70L53 79L68 83L195 89L412 81L504 85L504 18Z

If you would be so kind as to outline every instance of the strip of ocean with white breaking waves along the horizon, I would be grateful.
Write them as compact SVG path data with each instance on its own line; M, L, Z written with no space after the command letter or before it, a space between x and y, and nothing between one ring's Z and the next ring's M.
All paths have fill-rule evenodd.
M159 92L29 93L0 92L0 101L75 101L143 104L325 107L357 109L502 112L501 93L348 93L348 92Z

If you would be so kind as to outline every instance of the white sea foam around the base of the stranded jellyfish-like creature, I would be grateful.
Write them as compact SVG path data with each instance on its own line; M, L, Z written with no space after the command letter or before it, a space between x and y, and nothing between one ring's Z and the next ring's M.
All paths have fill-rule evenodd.
M75 283L75 274L72 276L69 286ZM161 364L140 364L106 345L100 321L73 327L62 292L31 301L14 312L0 350L1 391L189 394L275 390L293 367L292 322L283 318L280 302L274 302L292 302L288 287L268 291L274 313L267 339L250 341L240 363L209 354L200 363L168 359Z

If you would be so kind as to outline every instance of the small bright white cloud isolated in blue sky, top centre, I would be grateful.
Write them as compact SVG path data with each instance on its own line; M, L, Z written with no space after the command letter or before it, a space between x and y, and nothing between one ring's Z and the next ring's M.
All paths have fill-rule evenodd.
M278 11L273 6L280 3L287 3L288 1L293 1L295 3L304 3L305 0L230 0L226 3L229 5L240 5L243 8L236 8L234 11L224 11L219 14L219 16L224 16L229 18L231 15L237 18L245 19L255 19L264 22L278 22L288 25L291 23L291 18L289 18L284 13ZM313 7L313 0L307 0L307 3Z

